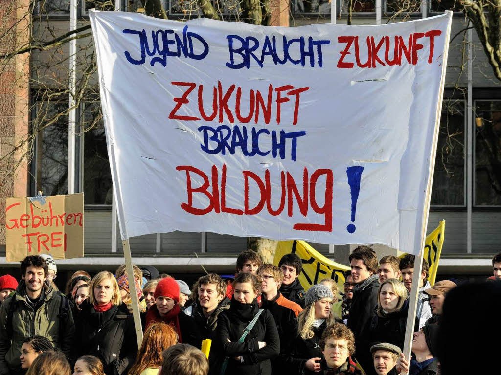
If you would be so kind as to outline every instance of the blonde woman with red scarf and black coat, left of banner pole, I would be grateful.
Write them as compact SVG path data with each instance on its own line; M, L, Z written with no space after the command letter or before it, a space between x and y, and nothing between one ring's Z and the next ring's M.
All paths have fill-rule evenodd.
M111 272L99 272L91 281L90 295L82 302L76 320L73 357L94 355L104 372L126 374L134 362L137 341L134 322L122 302L117 280Z

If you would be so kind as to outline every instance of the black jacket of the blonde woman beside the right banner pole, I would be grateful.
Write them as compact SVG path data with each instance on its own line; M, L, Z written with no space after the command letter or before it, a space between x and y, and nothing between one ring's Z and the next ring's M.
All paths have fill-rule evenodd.
M376 313L371 322L371 343L389 342L390 344L397 345L401 350L403 350L408 310L409 301L405 300L400 311L389 313L385 317L381 317ZM414 332L417 332L418 330L419 319L416 317L414 322Z

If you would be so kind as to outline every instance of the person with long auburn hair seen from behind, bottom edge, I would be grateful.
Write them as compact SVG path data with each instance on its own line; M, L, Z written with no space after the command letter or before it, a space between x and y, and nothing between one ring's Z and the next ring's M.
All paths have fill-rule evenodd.
M162 365L162 352L177 343L174 329L162 322L151 323L144 332L136 362L128 375L156 375Z

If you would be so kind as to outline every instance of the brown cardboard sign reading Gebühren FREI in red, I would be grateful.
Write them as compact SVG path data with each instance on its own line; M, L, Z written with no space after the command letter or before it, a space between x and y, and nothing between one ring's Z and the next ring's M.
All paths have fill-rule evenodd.
M84 193L6 199L7 261L40 254L84 256Z

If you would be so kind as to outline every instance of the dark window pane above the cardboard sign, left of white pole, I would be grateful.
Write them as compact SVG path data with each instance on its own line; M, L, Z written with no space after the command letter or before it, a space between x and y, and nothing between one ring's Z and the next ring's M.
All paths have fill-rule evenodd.
M68 193L68 102L40 103L33 128L37 134L37 191ZM35 192L34 192L35 193Z

